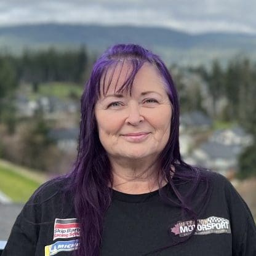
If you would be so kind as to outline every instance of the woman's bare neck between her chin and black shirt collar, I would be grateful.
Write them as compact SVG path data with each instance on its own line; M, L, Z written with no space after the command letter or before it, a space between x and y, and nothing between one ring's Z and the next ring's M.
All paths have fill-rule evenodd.
M128 194L142 194L166 185L159 175L158 162L150 159L111 158L113 189Z

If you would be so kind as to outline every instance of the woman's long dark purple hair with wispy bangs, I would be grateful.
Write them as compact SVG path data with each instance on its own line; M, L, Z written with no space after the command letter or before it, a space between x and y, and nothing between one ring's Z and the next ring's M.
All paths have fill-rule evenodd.
M66 188L74 195L74 209L81 228L80 246L75 252L78 256L100 255L103 217L108 207L111 206L111 189L109 186L113 185L113 176L111 174L110 161L98 137L94 108L95 103L100 97L102 82L103 86L105 85L104 78L106 73L111 68L113 70L113 67L116 67L118 63L124 61L129 64L131 71L127 80L122 85L122 89L131 90L132 82L138 70L140 70L144 63L150 63L156 67L165 82L167 94L172 103L173 114L170 137L164 150L159 155L158 161L161 164L159 173L161 177L165 177L169 182L170 188L177 197L177 200L172 201L164 193L164 190L160 188L161 200L170 204L170 206L180 207L182 212L193 218L197 225L198 212L195 213L191 209L191 198L201 180L205 180L209 185L209 182L207 182L208 178L201 176L199 168L186 164L180 156L178 95L172 77L161 58L135 44L117 44L110 47L95 62L81 97L78 156L73 171L68 175L70 182L67 183ZM171 167L175 167L175 172L172 172ZM182 195L177 189L177 183L184 182L190 182L191 187L187 194ZM202 193L202 202L205 203L207 198L209 198L209 186L206 186L206 190ZM184 239L180 238L178 241L170 243L170 246L184 242L188 238L190 236ZM154 252L166 249L167 247L156 249Z

